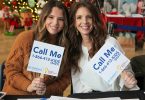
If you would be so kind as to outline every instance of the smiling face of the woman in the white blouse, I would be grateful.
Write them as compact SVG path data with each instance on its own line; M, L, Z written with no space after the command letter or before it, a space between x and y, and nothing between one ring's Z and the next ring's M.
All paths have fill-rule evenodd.
M75 27L83 36L88 36L93 29L93 19L86 7L78 8L75 14Z

